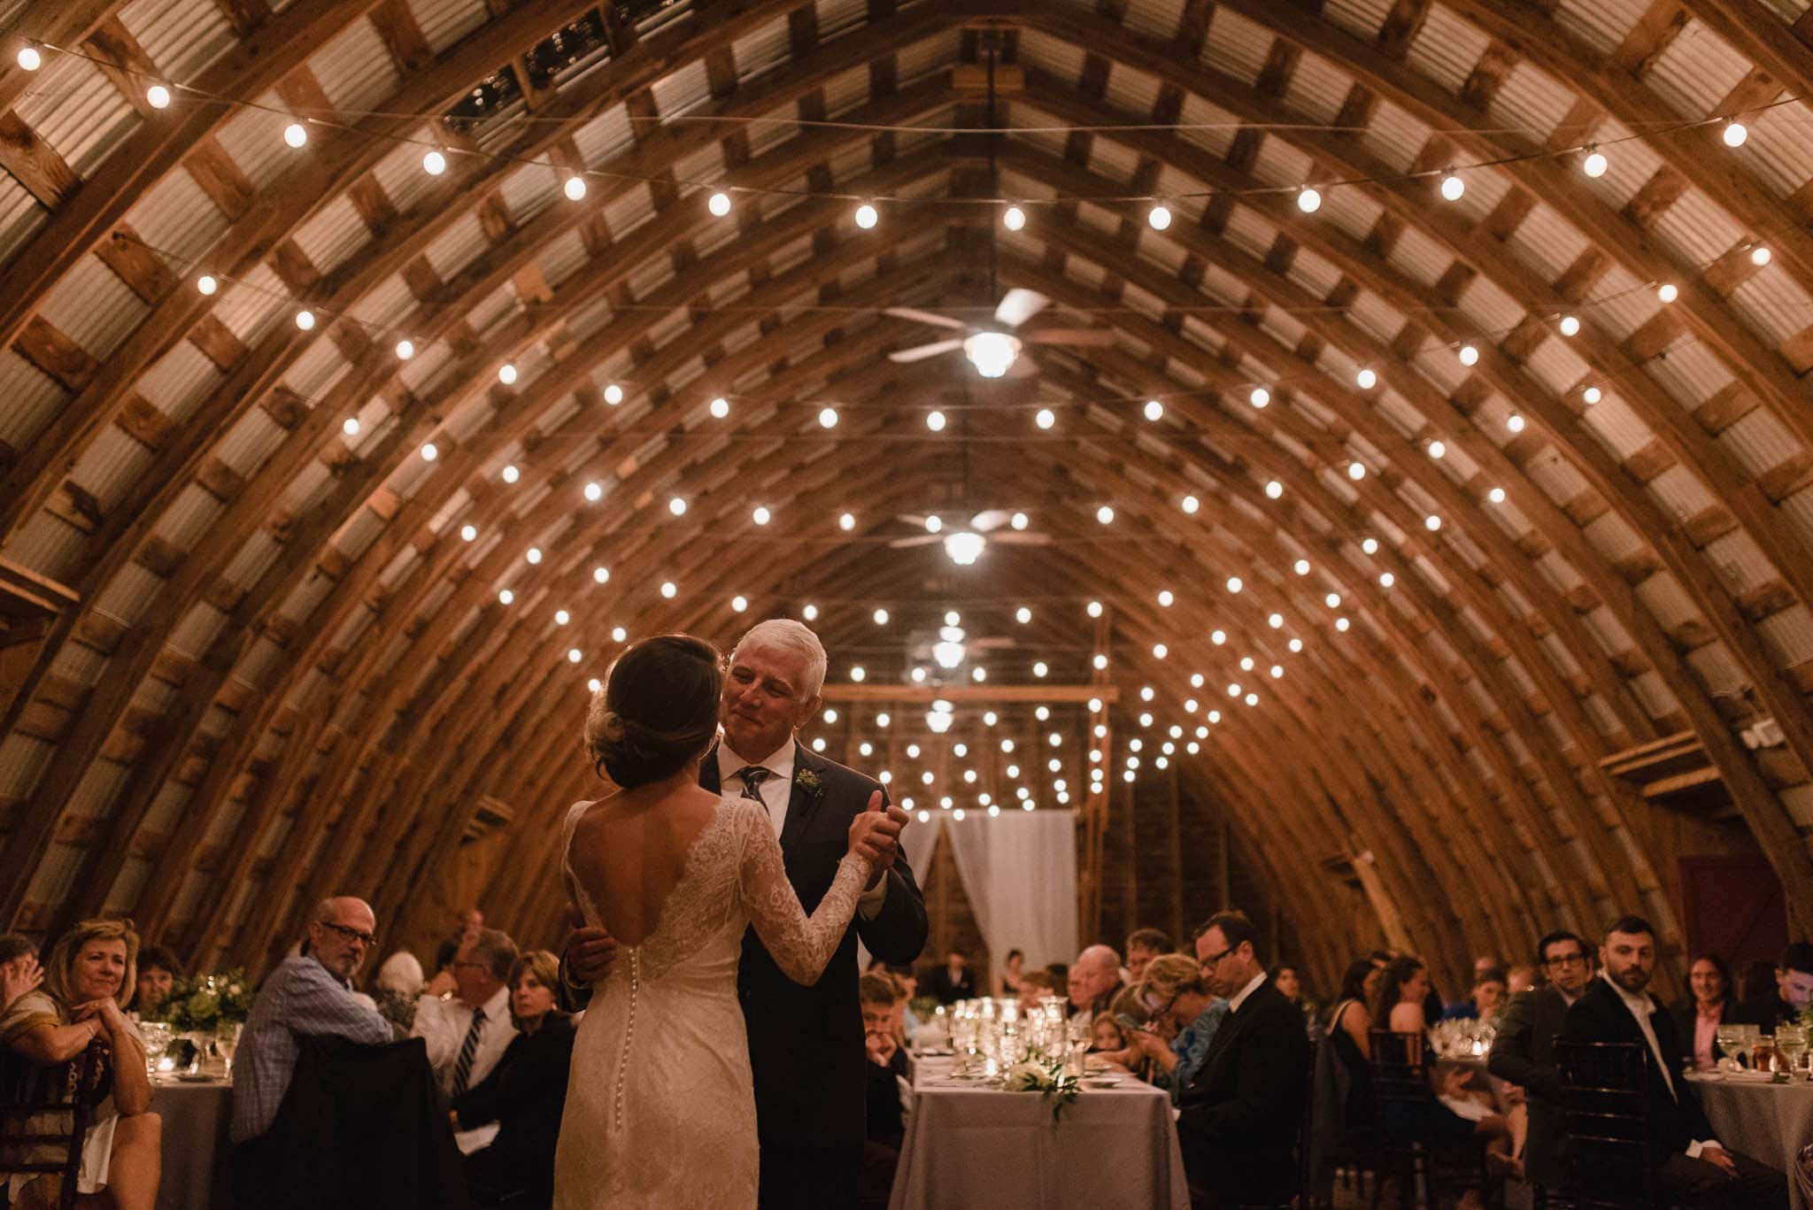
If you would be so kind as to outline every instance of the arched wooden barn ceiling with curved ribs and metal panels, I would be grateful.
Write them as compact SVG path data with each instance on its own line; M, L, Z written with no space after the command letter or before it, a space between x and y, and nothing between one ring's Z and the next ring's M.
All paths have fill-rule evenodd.
M1322 969L1376 940L1331 862L1447 963L1630 907L1679 943L1677 824L1603 764L1663 740L1804 929L1809 29L1798 0L29 0L0 555L76 602L0 649L0 918L120 909L257 965L354 889L406 932L486 798L515 805L493 902L546 916L615 628L814 600L834 678L897 678L876 604L1030 602L1021 648L1086 680L1095 599L1160 727L1217 711L1178 776ZM450 123L506 65L528 91ZM881 308L994 301L990 241L1001 288L1113 343L1006 383L887 361L926 328ZM997 504L1053 542L887 546L899 512Z

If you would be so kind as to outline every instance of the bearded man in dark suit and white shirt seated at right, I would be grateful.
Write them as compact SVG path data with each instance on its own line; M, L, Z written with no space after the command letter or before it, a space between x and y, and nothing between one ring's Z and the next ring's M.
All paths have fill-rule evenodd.
M1788 1176L1713 1137L1693 1083L1679 1072L1675 1020L1650 996L1655 929L1621 916L1599 945L1599 978L1561 1021L1563 1041L1635 1041L1650 1049L1648 1137L1663 1197L1688 1210L1782 1210Z

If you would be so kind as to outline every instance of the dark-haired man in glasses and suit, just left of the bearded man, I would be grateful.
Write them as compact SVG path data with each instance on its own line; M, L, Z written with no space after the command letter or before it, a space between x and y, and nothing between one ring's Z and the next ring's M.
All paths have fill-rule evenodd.
M1532 1183L1556 1188L1568 1172L1568 1121L1561 1107L1556 1038L1561 1020L1592 980L1594 960L1586 942L1566 931L1545 936L1536 954L1548 983L1519 994L1505 1009L1485 1069L1525 1090L1530 1132L1523 1145L1523 1170Z

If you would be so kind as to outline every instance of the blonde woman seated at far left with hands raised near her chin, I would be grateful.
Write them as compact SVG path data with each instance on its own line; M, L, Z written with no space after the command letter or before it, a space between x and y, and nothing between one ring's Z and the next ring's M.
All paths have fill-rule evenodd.
M63 1096L67 1069L89 1047L98 1050L100 1081L89 1105L82 1139L76 1194L103 1195L114 1210L152 1210L158 1201L163 1123L150 1112L145 1043L123 1005L138 985L138 934L125 920L85 920L51 947L44 987L25 990L0 1012L0 1049L7 1083L33 1090L34 1099ZM18 958L15 958L18 961ZM54 1081L54 1083L53 1083ZM71 1128L71 1114L34 1114L27 1134ZM54 1163L54 1143L20 1143L11 1154L25 1163ZM62 1192L56 1174L18 1172L5 1186L5 1205L54 1206ZM96 1205L83 1197L82 1205Z

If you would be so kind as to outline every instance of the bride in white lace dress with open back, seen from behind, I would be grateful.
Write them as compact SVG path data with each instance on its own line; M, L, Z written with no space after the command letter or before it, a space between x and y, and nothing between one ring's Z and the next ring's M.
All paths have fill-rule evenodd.
M700 639L645 639L611 666L586 718L587 753L620 789L567 811L562 871L586 922L622 949L573 1045L555 1210L756 1205L743 931L814 983L868 882L879 811L850 824L807 918L761 802L698 787L722 668Z

